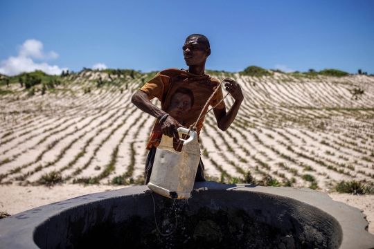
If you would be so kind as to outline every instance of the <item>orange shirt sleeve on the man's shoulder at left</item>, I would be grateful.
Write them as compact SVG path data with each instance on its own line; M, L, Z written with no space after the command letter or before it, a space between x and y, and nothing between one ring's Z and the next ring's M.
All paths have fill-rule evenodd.
M160 101L162 101L163 92L165 91L166 86L168 86L168 82L168 76L157 73L157 75L154 75L151 80L144 84L141 91L147 93L150 100L153 98L158 98Z

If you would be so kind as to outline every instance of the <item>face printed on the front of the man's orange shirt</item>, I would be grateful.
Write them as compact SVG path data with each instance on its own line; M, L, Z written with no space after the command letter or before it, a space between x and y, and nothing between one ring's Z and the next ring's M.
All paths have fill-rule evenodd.
M184 93L176 93L171 102L169 107L169 115L172 118L175 118L178 122L182 122L184 116L190 111L191 109L191 98L189 95Z

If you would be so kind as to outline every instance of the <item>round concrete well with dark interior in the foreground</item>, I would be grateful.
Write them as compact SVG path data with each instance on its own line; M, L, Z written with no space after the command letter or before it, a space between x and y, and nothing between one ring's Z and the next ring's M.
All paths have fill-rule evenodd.
M147 186L89 194L0 220L0 248L374 248L358 209L292 187L195 183L162 237ZM154 194L159 225L171 199ZM165 231L163 231L165 232Z

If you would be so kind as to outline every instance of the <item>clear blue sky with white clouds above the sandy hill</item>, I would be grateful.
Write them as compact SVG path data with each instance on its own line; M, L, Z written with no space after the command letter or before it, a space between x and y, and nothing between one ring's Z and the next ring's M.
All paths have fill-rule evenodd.
M192 33L211 42L208 69L374 73L371 0L12 0L0 1L0 30L0 73L8 75L38 66L186 68L181 46Z

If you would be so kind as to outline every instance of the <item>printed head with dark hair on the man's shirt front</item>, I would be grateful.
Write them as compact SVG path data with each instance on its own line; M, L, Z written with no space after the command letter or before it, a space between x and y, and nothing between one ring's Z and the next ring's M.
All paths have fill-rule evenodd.
M179 89L172 94L168 113L178 122L183 122L184 116L186 116L193 107L193 102L193 92L190 89L179 87Z

